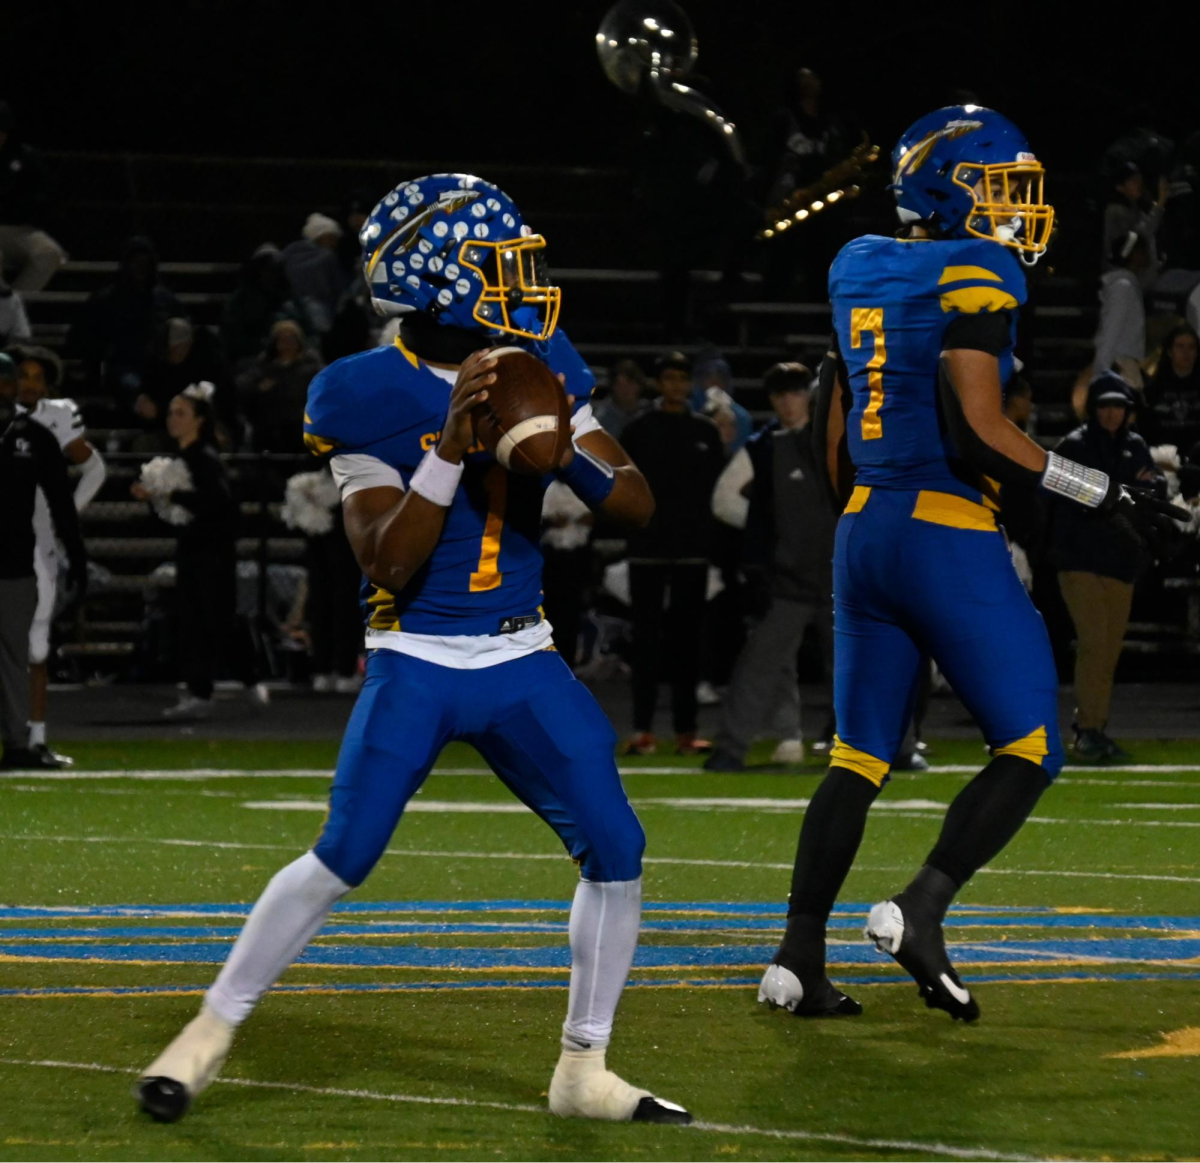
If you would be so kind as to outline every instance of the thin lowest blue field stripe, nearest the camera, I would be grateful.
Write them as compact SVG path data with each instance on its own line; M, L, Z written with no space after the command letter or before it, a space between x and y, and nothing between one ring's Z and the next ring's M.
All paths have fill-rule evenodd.
M1056 972L1045 973L983 973L972 976L972 985L1020 985L1037 982L1062 982L1064 984L1108 984L1114 982L1196 982L1200 972L1163 972L1163 973L1092 973L1092 972ZM330 982L311 985L276 985L272 994L404 994L430 993L454 989L566 989L566 982L554 978L533 978L529 981L484 981L484 982ZM631 977L626 985L630 989L752 989L758 984L758 977L713 977L713 978L637 978ZM845 985L858 989L865 985L911 985L907 975L888 973L870 977L848 978ZM154 996L156 994L200 995L208 985L61 985L41 987L37 989L0 989L0 997L126 997Z

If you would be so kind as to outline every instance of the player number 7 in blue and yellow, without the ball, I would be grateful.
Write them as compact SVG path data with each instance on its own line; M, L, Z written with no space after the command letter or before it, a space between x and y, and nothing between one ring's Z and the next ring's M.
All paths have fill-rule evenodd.
M1043 167L1021 132L990 109L938 109L905 133L892 162L901 235L856 239L829 272L834 350L814 428L844 504L838 736L804 816L787 931L758 1000L799 1014L862 1012L826 976L826 923L930 655L992 759L950 804L916 879L871 910L866 936L912 975L928 1006L971 1021L979 1007L947 957L946 910L1063 761L1054 657L996 524L998 490L1040 487L1132 538L1166 510L1046 454L1004 418L1022 266L1054 224Z

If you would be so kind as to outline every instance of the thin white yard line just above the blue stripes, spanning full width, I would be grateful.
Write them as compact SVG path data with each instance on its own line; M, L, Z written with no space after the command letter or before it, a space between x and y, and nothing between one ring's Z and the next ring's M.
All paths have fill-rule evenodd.
M47 835L44 833L0 833L0 840L38 844L160 844L168 847L232 849L251 852L292 852L299 855L295 844L245 844L234 840L180 840L142 835ZM448 851L445 849L388 849L384 856L409 856L445 861L559 861L569 857L563 852L479 852ZM647 856L643 864L673 864L685 868L746 868L791 871L791 862L782 861L716 861L695 859L683 856ZM905 873L907 865L857 865L858 873ZM1174 885L1200 885L1200 876L1174 876L1154 873L1084 873L1063 869L982 868L977 876L1057 876L1075 880L1132 880L1165 881Z

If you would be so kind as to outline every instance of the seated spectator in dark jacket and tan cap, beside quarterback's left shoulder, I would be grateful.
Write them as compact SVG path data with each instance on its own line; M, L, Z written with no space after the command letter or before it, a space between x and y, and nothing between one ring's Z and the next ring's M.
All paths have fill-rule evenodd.
M304 406L320 359L292 319L271 328L266 350L238 377L242 415L259 452L304 451Z

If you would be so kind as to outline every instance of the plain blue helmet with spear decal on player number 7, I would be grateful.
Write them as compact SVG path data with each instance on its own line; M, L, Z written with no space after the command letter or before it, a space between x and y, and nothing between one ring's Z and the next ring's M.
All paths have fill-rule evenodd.
M1008 118L982 106L948 106L910 126L892 151L900 221L943 238L982 238L1032 265L1054 228L1045 169Z

